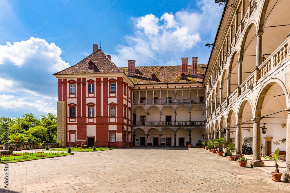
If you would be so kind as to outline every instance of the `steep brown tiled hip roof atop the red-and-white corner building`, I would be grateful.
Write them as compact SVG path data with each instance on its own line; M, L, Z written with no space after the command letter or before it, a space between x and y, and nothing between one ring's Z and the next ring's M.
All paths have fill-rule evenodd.
M96 65L95 69L88 69L90 60ZM79 63L68 67L55 74L96 74L96 73L122 73L118 67L108 58L102 49L81 60Z

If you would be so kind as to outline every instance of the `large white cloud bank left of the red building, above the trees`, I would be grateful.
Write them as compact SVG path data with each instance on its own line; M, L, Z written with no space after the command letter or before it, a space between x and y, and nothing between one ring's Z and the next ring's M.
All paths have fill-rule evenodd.
M0 45L0 116L57 113L57 79L52 73L70 66L60 55L54 43L34 37Z

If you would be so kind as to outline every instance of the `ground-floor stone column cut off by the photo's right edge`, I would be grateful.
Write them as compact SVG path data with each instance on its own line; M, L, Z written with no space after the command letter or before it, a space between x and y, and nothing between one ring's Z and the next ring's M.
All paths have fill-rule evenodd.
M284 182L290 182L290 108L287 109L287 129L286 129L286 170L283 172L282 178Z

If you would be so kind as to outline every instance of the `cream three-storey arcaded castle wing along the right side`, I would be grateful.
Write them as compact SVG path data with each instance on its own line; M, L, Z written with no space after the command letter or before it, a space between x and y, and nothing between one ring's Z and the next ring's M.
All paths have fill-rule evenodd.
M242 139L252 137L252 166L280 148L288 171L289 141L280 140L290 139L289 8L286 0L229 0L203 81L207 139L224 133L241 155Z

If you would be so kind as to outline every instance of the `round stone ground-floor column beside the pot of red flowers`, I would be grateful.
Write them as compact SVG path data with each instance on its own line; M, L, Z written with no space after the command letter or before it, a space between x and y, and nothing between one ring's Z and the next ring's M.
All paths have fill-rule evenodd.
M253 124L253 159L250 161L250 166L264 166L264 162L261 160L261 118L252 119Z

